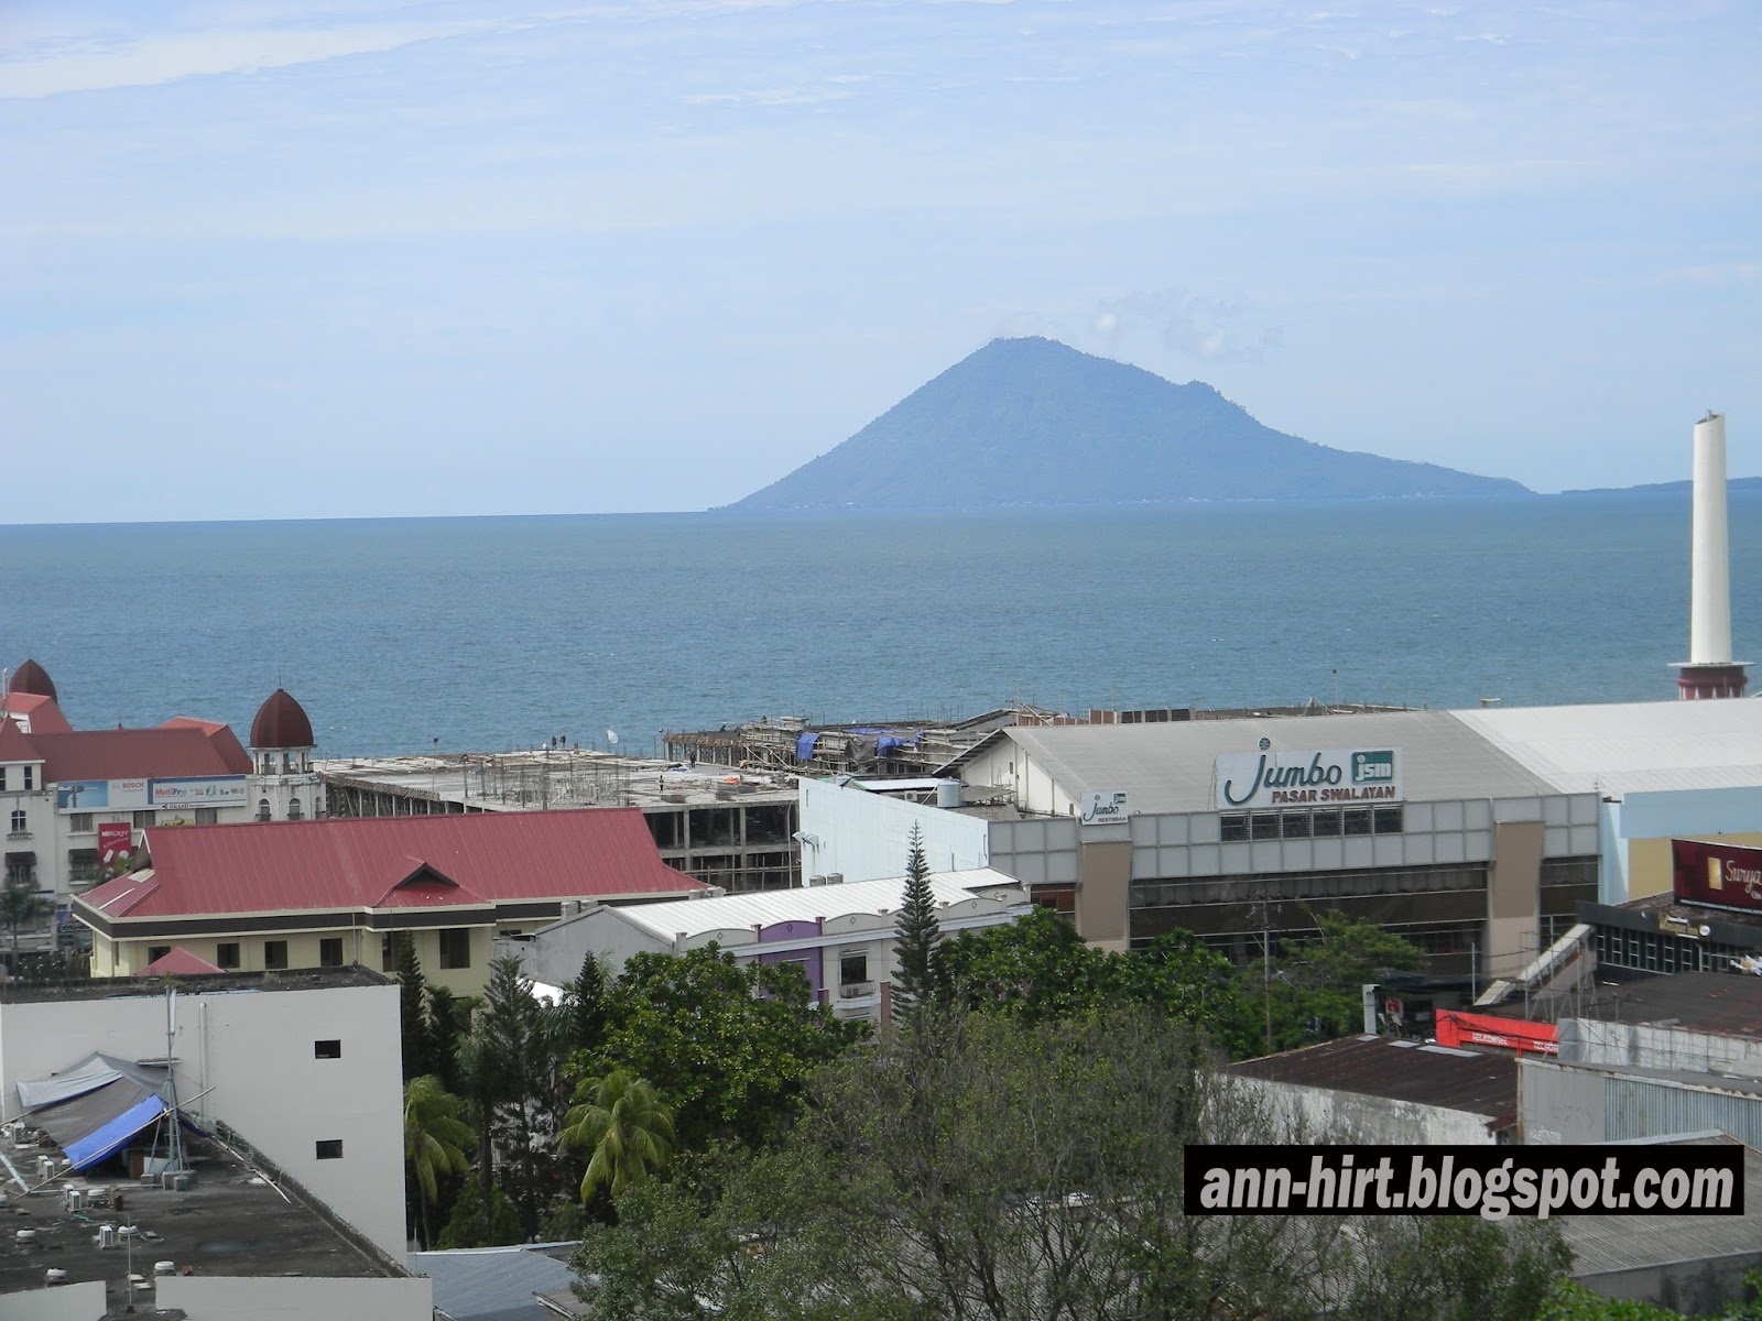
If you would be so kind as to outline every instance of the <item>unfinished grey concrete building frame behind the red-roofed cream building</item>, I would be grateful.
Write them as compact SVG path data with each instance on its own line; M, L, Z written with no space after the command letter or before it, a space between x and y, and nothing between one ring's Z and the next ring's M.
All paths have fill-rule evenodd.
M634 807L661 861L707 886L802 884L795 780L786 775L580 747L315 764L337 817Z

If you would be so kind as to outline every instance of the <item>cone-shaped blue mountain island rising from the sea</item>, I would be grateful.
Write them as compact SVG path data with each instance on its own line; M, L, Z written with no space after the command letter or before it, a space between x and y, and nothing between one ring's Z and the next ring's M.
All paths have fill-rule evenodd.
M992 340L733 511L1528 495L1515 481L1329 449L1052 340Z

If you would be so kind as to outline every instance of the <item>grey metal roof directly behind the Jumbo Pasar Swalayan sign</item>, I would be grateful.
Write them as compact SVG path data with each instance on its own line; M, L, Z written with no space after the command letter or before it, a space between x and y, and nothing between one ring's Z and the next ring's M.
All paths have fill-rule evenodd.
M1064 793L1124 789L1133 812L1205 812L1214 807L1214 759L1279 749L1399 747L1408 800L1528 798L1552 786L1464 726L1450 712L1371 712L1172 724L1045 726L1001 729Z

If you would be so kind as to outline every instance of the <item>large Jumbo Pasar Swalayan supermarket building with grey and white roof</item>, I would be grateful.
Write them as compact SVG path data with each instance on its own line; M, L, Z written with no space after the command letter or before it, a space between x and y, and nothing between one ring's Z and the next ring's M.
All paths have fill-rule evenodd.
M934 865L1008 872L1110 948L1186 928L1247 960L1341 909L1471 988L1533 965L1610 872L1667 886L1672 831L1748 838L1757 749L1755 703L1015 726L939 768L962 807L807 780L802 835L807 870L856 881L918 824Z

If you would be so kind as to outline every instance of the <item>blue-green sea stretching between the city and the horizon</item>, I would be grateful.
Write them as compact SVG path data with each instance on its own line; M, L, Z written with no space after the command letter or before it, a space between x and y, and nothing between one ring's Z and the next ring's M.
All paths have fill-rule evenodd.
M1762 660L1762 491L1730 495ZM752 719L1674 697L1686 491L971 513L0 527L0 664L76 727L285 687L319 756Z

